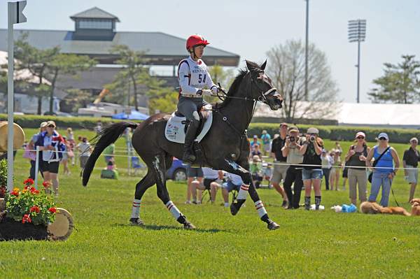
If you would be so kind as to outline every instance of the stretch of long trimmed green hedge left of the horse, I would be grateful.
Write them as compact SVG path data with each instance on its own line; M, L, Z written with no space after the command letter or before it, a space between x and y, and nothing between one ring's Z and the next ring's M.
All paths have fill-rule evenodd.
M52 115L14 116L15 123L19 124L22 128L39 128L41 122L48 120L54 121L59 129L66 129L67 127L71 127L72 129L93 129L99 120L101 120L103 126L120 121L104 117L59 117ZM7 115L0 114L0 121L7 121ZM128 121L135 122L133 120Z

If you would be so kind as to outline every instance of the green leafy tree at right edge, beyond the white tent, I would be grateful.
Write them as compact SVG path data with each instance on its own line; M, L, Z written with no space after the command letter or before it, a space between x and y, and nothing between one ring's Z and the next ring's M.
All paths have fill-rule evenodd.
M373 103L414 103L420 99L420 62L415 55L402 55L397 65L384 63L384 76L374 79L377 85L367 94Z

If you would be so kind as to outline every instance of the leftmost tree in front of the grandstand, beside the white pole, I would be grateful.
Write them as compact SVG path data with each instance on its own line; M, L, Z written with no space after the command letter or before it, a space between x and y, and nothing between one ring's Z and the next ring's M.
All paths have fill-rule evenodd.
M50 92L45 85L45 76L47 75L48 66L59 54L59 47L39 50L30 45L27 41L27 34L23 34L18 41L15 41L15 64L16 71L27 69L32 76L38 79L38 88L34 90L35 96L38 97L38 115L42 113L42 97Z

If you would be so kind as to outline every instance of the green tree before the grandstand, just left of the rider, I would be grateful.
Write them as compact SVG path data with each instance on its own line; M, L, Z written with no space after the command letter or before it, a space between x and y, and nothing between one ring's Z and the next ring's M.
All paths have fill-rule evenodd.
M144 66L147 61L144 58L145 52L130 50L127 45L114 45L113 48L111 48L111 53L120 57L116 62L124 65L125 68L120 71L109 87L121 87L123 83L125 83L125 86L132 86L134 92L134 107L136 110L139 110L139 102L137 99L139 81L141 81L142 74L148 73L148 68ZM129 81L128 84L126 83L127 80Z

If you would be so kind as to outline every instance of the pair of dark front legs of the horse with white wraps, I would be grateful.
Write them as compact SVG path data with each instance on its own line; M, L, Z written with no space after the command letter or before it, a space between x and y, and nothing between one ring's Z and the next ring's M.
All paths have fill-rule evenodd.
M246 201L246 197L249 193L251 199L254 202L255 209L257 210L258 215L260 216L260 219L267 223L268 229L279 229L279 225L276 224L276 222L269 219L267 210L265 210L264 204L260 200L260 196L258 196L255 186L253 185L252 175L249 172L248 162L244 162L244 166L241 166L237 164L237 162L234 162L229 159L225 159L225 162L227 163L227 166L225 166L224 170L228 171L229 173L237 174L242 178L243 182L243 184L239 188L237 203L232 203L230 205L230 213L232 213L232 215L237 215L242 204L244 204L244 202Z

